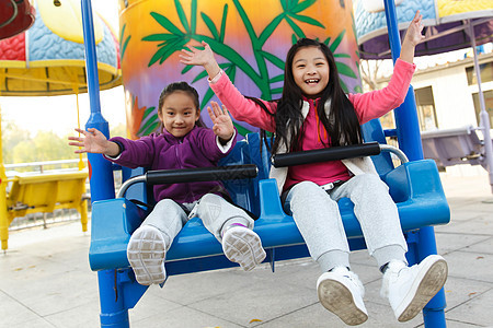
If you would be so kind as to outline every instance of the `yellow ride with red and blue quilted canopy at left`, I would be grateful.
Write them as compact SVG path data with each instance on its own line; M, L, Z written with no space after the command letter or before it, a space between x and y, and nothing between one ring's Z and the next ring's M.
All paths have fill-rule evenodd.
M79 2L71 2L80 8ZM64 3L66 7L70 4L69 1ZM59 10L64 10L59 1L0 1L0 96L76 94L79 117L78 95L87 92L82 27L60 24ZM77 20L77 14L70 15L72 12L64 13L67 20ZM110 27L101 21L95 24L95 35L101 54L98 62L99 87L117 86L122 84L122 79L116 37L112 37ZM84 169L82 157L76 172L16 174L8 178L0 148L2 250L8 249L10 223L31 213L76 209L81 215L82 231L87 231L87 178L88 169Z

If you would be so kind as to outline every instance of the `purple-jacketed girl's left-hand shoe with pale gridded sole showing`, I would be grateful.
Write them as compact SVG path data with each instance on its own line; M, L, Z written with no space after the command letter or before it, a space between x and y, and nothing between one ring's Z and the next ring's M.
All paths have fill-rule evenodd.
M127 258L138 283L150 285L164 282L165 249L161 232L153 226L142 225L131 234Z

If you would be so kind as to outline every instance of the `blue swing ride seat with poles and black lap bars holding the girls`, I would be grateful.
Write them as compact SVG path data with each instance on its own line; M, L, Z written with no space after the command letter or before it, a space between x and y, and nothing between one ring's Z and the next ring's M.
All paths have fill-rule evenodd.
M101 115L100 108L101 79L98 70L91 0L81 0L81 7L91 107L91 116L85 128L96 128L110 137L108 122ZM393 1L385 0L385 13L391 54L395 60L400 55L400 36ZM323 156L335 160L344 156L371 155L381 179L388 184L390 195L398 206L409 245L408 260L413 265L431 254L436 254L433 225L448 223L450 212L435 162L423 160L412 90L408 92L404 104L394 113L398 117L397 134L401 150L397 151L401 159L401 165L398 167L394 167L387 152L381 152L387 151L388 147L378 120L363 126L365 142L369 145L342 148L335 155L329 150ZM270 154L261 143L259 133L250 133L237 143L231 154L221 162L219 169L198 171L198 174L200 178L223 179L233 200L259 216L254 230L267 251L265 261L271 263L274 271L276 260L307 257L309 254L293 218L283 210L275 180L268 179L271 165L293 165L294 159L289 156L284 159L286 161L284 164L276 161L271 163ZM149 186L170 183L173 174L180 181L186 181L186 176L194 179L197 172L191 174L185 169L179 174L171 174L123 168L126 183L115 198L112 164L100 154L88 154L88 159L92 201L89 259L91 269L98 271L101 327L128 327L128 309L137 304L148 288L136 282L126 257L129 237L142 222L148 210L133 200L152 203L152 192L148 192ZM232 174L231 169L237 173ZM353 203L348 199L343 199L339 207L351 248L353 250L366 248L359 223L354 215ZM175 237L167 254L165 262L169 276L231 266L232 263L222 255L220 244L197 219L191 220ZM425 326L445 327L445 293L442 290L423 309Z

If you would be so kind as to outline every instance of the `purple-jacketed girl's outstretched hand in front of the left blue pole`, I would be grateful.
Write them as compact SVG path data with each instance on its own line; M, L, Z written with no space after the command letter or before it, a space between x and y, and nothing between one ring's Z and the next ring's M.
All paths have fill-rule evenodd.
M114 142L108 141L106 137L99 130L90 128L88 129L88 131L82 129L76 129L76 131L83 136L68 138L68 140L73 141L69 142L69 145L81 148L74 151L76 154L96 153L110 156L116 156L118 154L118 145Z

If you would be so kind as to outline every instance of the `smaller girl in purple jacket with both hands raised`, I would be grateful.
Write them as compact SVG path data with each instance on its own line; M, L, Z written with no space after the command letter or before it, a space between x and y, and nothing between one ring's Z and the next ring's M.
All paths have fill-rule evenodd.
M236 144L236 130L226 106L211 102L208 114L213 129L203 127L197 91L185 82L168 85L159 97L158 116L161 133L129 140L106 140L96 129L76 129L83 137L69 137L76 153L101 153L123 166L150 169L217 166ZM131 235L127 257L137 282L162 283L167 276L164 259L173 238L192 218L221 243L226 257L243 270L252 270L265 258L259 235L252 231L253 220L242 209L221 196L220 181L198 181L154 186L158 201L152 212Z

